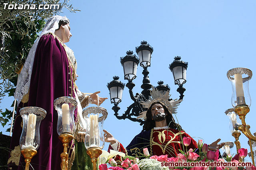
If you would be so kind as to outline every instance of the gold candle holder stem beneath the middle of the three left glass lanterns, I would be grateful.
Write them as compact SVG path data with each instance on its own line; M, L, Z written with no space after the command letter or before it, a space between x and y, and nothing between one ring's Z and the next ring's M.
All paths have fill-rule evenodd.
M69 133L62 133L59 136L59 139L63 143L63 147L64 147L63 152L60 154L61 170L68 170L68 144L70 143L70 141L72 141L73 138L74 138L73 135Z

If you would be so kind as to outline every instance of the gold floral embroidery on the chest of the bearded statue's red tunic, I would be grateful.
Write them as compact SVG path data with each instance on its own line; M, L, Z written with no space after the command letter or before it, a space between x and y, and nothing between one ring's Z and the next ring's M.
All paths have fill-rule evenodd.
M152 143L150 143L150 149L152 148L152 145L157 145L157 146L159 146L162 149L162 152L164 154L165 151L166 151L166 147L168 147L168 145L170 143L182 143L181 141L173 141L173 140L176 138L176 136L182 135L185 132L178 132L178 133L174 134L172 131L169 131L168 129L166 129L166 130L163 130L162 132L156 131L156 132L158 132L158 140L160 141L161 144L164 144L165 139L166 139L165 138L165 134L164 134L165 131L167 131L167 135L170 132L170 133L172 133L174 135L174 137L168 135L171 139L166 143L166 145L160 145L159 143L154 142L154 137L151 139L151 136L150 136L150 142L152 142ZM153 135L153 133L152 133L152 135ZM162 141L161 137L163 137L163 141ZM164 146L164 147L162 147L162 146Z

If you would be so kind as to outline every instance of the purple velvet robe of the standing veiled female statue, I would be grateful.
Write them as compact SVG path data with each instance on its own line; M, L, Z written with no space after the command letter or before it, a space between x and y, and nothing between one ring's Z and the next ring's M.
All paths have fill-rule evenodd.
M66 51L58 39L51 34L46 34L40 38L36 49L29 99L27 103L20 102L18 106L10 145L11 150L19 145L22 132L20 108L36 106L45 109L46 117L40 125L40 147L30 162L35 170L60 170L60 153L63 152L63 146L58 139L56 130L58 113L54 109L53 102L62 96L75 98L72 68ZM77 110L74 113L75 120L76 115ZM12 164L11 167L12 170L24 170L24 158L21 156L19 166Z

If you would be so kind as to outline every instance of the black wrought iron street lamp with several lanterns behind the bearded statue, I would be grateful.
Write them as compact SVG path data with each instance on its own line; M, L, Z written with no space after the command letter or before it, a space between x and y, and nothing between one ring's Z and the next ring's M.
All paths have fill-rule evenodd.
M124 90L125 84L119 80L118 76L114 76L114 80L109 82L107 84L107 87L110 90L110 101L114 104L112 109L115 112L114 115L116 116L116 118L130 119L131 121L140 122L140 125L143 125L144 121L142 119L136 119L136 117L138 117L139 113L141 113L142 111L146 111L146 108L142 106L141 102L145 101L146 99L148 100L150 97L150 88L152 87L152 85L150 84L150 80L148 77L148 67L151 64L150 61L153 48L147 43L147 41L142 41L141 45L139 47L136 47L135 49L136 53L139 56L139 59L138 57L136 57L136 55L133 55L133 51L127 51L127 55L125 57L120 58L120 62L124 69L124 79L128 80L126 87L128 87L130 98L134 102L129 107L127 107L127 110L121 116L118 113L118 111L120 110L118 104L122 101L122 92ZM144 77L141 85L141 88L143 90L141 93L136 93L136 95L134 96L132 89L134 88L135 84L132 82L132 80L136 78L136 72L139 63L140 66L143 67L142 74L144 75ZM183 84L186 83L187 67L188 63L181 61L181 57L179 56L174 57L174 61L169 66L174 76L174 83L179 86L177 92L180 93L180 100L183 99L183 94L184 91L186 90L183 87ZM163 81L159 81L158 86L156 86L156 88L163 93L170 90L168 84L164 85Z

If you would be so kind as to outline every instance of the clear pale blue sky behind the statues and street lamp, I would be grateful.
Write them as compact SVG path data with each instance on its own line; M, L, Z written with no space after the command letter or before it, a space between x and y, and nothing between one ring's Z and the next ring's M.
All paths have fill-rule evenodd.
M179 98L172 74L168 68L175 56L188 62L187 82L184 84L184 101L178 107L179 124L197 141L207 144L218 138L222 142L234 141L229 131L229 120L224 111L232 107L232 86L226 73L231 68L245 67L254 73L256 51L256 2L254 0L76 0L70 1L81 12L70 13L72 38L67 45L73 49L78 62L77 85L82 92L101 91L100 96L110 97L106 84L113 76L124 80L120 57L126 51L147 41L153 48L152 63L148 68L150 83L159 80L171 88L172 98ZM141 92L143 75L138 66L133 81L134 94ZM255 81L249 83L252 98L251 111L246 123L255 127ZM12 99L0 104L4 109ZM119 113L132 104L128 88L124 89ZM104 129L127 146L140 133L139 123L114 117L110 99L102 107L108 110ZM2 127L1 127L2 130ZM8 134L8 133L6 133ZM248 148L248 139L240 136L241 146ZM106 143L106 145L108 145ZM107 149L105 147L104 149ZM234 148L232 152L236 152ZM249 158L248 158L249 160Z

